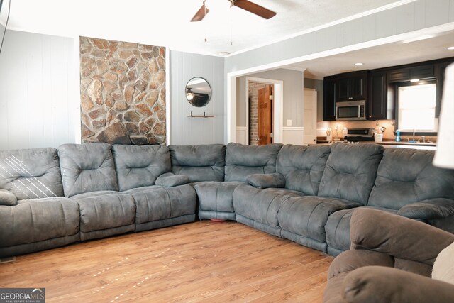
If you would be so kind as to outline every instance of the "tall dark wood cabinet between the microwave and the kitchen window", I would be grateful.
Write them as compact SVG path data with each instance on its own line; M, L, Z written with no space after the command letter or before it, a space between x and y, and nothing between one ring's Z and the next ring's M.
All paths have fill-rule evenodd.
M368 83L367 119L387 119L387 72L370 72Z

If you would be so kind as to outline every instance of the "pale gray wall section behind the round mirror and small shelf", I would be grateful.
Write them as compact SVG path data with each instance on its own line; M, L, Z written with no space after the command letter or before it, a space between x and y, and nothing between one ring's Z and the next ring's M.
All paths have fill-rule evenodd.
M223 63L221 57L170 50L170 144L223 143L226 116ZM192 77L202 77L211 86L211 101L204 107L192 106L186 99L184 90ZM189 118L191 111L194 115L205 111L207 116L214 117Z

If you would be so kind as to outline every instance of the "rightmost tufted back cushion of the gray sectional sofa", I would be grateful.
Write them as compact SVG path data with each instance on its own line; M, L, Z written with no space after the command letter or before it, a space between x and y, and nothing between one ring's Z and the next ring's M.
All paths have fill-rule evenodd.
M433 155L433 150L384 150L368 205L400 209L425 199L454 199L454 170L434 167Z

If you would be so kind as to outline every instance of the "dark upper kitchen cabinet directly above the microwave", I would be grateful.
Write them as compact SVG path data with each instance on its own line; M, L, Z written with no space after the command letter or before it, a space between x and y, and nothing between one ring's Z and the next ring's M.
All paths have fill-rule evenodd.
M338 75L338 101L365 100L367 71Z

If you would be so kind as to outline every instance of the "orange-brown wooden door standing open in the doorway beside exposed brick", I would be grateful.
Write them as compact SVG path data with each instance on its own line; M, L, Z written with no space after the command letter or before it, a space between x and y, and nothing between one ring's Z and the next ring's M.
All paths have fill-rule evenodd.
M258 145L272 143L272 85L258 90Z

